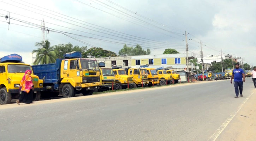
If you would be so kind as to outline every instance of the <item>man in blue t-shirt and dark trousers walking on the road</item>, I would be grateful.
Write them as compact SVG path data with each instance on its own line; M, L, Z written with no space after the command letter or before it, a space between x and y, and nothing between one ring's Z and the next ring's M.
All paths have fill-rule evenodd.
M236 69L233 70L232 77L230 80L230 83L232 84L232 79L234 78L234 87L235 87L235 92L236 92L236 97L238 98L239 92L240 92L240 97L243 97L243 82L245 82L245 76L244 76L244 70L239 68L239 63L235 64ZM242 80L243 76L243 80ZM239 92L238 92L239 88Z

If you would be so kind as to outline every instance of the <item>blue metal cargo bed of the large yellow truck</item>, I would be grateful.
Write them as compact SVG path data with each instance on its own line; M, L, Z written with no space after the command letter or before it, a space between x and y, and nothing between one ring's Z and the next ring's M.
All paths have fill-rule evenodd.
M32 66L34 74L37 75L39 79L45 77L44 84L54 84L54 90L59 87L61 60L62 59L56 59L55 63Z

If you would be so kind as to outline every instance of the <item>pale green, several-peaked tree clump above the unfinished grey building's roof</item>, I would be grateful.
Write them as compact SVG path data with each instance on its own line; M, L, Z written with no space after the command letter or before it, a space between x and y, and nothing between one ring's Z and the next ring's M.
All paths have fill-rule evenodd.
M134 56L134 55L150 55L150 49L144 50L142 47L137 44L135 48L128 47L124 44L124 47L118 52L121 56Z

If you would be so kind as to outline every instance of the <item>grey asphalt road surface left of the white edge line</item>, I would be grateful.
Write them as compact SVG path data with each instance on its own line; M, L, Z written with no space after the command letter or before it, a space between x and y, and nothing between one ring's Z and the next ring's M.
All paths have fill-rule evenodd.
M243 98L221 80L0 107L0 140L207 141L252 91L247 78Z

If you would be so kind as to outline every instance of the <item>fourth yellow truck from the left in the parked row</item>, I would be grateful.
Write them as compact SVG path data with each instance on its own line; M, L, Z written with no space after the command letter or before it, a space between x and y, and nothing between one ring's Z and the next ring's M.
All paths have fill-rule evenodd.
M129 88L136 88L137 85L133 82L132 76L126 75L125 69L122 66L113 66L113 72L115 74L115 80L118 81L122 88L127 88L129 84Z

